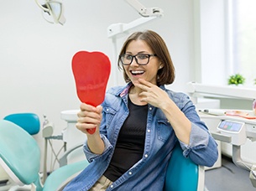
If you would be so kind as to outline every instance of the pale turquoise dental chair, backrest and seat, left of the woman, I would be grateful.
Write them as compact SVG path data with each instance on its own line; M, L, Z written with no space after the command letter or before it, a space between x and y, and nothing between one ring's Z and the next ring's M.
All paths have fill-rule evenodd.
M56 169L44 185L39 176L40 149L34 138L11 121L0 120L0 165L18 185L31 184L31 190L55 191L87 165L86 160Z

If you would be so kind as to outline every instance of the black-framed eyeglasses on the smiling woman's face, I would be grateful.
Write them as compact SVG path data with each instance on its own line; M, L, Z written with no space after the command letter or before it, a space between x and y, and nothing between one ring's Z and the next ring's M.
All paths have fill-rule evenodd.
M123 54L119 56L119 59L123 65L131 65L133 58L135 58L138 65L148 65L151 56L156 56L156 54Z

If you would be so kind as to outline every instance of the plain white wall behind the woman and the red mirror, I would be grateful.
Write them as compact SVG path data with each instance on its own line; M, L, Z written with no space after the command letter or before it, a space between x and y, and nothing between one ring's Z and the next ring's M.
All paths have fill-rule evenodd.
M176 68L175 83L169 87L184 91L185 84L195 79L193 1L140 2L164 10L164 18L139 29L153 29L165 39ZM121 0L65 0L63 4L64 26L44 21L34 0L1 0L0 12L0 117L34 112L43 121L44 114L55 123L55 134L66 126L60 111L80 105L71 72L72 56L85 49L102 51L113 59L107 27L139 17ZM123 39L119 40L118 47L122 43ZM122 84L122 74L118 74ZM108 86L113 84L111 77ZM35 138L43 153L41 134Z

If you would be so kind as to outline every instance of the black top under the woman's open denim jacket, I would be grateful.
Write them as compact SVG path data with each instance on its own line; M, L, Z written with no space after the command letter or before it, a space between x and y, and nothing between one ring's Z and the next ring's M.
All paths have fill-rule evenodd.
M104 173L112 182L133 167L144 153L148 105L138 106L128 99L129 116L119 132L112 160Z

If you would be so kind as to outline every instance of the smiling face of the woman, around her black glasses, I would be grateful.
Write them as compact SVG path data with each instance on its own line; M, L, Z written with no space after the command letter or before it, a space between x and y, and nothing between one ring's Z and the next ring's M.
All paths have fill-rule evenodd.
M128 44L125 54L154 54L154 52L144 40L137 39ZM156 56L150 56L148 65L138 65L135 58L133 58L131 65L123 65L123 69L133 84L138 83L138 79L144 79L156 85L159 67L160 62Z

